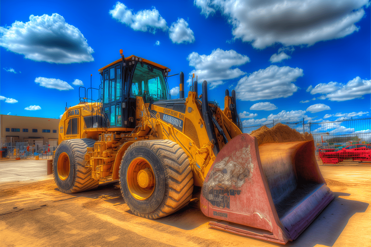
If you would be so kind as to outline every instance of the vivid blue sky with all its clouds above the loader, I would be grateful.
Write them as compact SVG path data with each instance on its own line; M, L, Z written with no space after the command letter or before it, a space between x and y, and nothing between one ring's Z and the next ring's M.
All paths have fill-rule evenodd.
M195 73L222 109L235 89L244 126L371 114L368 0L4 0L0 11L1 114L59 118L119 49L183 71L185 93ZM168 82L178 98L179 77Z

